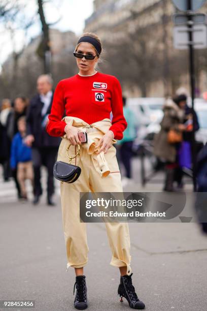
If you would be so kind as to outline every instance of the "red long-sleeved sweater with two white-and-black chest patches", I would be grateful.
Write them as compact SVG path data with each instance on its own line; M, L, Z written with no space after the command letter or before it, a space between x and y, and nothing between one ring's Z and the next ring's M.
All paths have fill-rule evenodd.
M97 72L93 76L75 75L61 80L55 89L46 131L51 136L63 136L66 116L75 116L92 124L105 118L113 119L110 130L115 139L123 138L127 122L123 115L122 91L117 78Z

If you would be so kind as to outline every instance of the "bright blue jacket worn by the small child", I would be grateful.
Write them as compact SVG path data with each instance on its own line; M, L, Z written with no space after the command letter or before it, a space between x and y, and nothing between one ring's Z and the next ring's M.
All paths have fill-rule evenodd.
M17 133L12 140L11 147L11 168L16 168L18 162L31 161L31 148L27 147L20 133Z

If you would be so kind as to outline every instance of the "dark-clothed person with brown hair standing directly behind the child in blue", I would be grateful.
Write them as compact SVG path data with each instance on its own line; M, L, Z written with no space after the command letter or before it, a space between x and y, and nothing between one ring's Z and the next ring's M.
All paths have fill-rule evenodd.
M18 133L17 123L18 123L19 118L26 115L27 106L28 106L28 99L26 97L17 96L14 99L13 109L11 110L11 113L9 114L8 125L7 125L7 133L8 133L8 136L11 142L14 136L16 135L16 133ZM8 159L10 159L10 157ZM17 167L13 169L11 168L11 174L12 174L12 177L14 178L14 182L16 185L18 199L21 200L22 197L21 197L20 184L17 178Z

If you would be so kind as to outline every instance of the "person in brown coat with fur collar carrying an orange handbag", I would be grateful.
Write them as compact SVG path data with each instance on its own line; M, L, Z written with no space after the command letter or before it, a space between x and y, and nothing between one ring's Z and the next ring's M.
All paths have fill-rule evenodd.
M178 166L177 150L178 143L168 142L168 133L174 130L183 132L186 127L183 124L184 111L171 99L167 99L163 107L163 118L160 123L160 132L154 137L154 154L165 162L165 182L163 191L175 191L174 175Z

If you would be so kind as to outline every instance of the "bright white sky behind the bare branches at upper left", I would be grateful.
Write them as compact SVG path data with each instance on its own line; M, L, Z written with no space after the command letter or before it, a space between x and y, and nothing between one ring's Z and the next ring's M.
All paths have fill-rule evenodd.
M11 0L9 0L11 1ZM23 4L26 3L24 14L30 19L37 12L37 0L20 0ZM47 22L55 22L59 18L60 21L52 28L61 31L72 30L77 35L80 35L84 29L85 19L93 12L93 0L51 0L51 4L45 5L45 15ZM20 17L22 18L22 17ZM15 31L15 50L21 50L24 44L27 44L31 38L38 36L41 32L41 24L39 17L37 22L29 28L28 34L18 29ZM11 33L5 30L5 27L0 24L0 70L1 65L12 52L13 46L11 41Z

